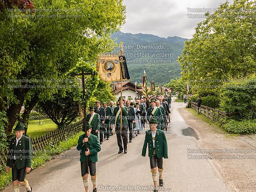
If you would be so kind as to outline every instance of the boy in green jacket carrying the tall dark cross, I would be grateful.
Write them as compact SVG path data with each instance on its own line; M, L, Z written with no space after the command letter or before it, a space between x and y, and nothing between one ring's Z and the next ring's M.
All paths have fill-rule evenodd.
M85 133L79 136L77 143L77 150L80 151L80 163L81 163L81 175L83 180L84 188L88 192L88 167L87 167L87 156L88 165L90 169L91 181L93 183L93 192L97 191L96 188L96 162L98 161L98 152L100 152L101 147L99 144L98 137L91 134L92 126L89 122L86 125L87 131L83 130ZM86 134L88 137L86 137ZM86 142L88 150L86 151Z

